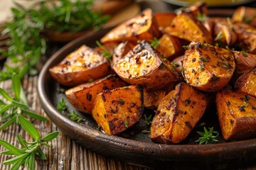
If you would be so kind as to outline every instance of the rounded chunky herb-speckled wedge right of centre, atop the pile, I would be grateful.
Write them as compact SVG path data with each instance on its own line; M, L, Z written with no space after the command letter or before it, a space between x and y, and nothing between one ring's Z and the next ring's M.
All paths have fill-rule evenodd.
M233 54L224 48L191 42L183 57L183 77L202 91L218 91L235 71Z

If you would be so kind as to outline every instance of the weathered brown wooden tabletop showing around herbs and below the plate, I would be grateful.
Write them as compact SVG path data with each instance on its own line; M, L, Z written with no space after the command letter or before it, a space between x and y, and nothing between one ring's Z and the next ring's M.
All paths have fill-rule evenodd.
M35 111L40 115L46 116L46 113L41 108L41 103L37 94L37 82L38 77L24 77L22 84L23 88L26 91L26 96L28 98L29 106L31 110ZM11 91L11 81L2 81L0 82L0 87L6 91ZM58 130L58 128L50 121L43 122L41 120L31 119L33 125L38 128L41 132L41 135L44 136L48 132L53 132ZM11 125L3 131L0 131L0 138L10 142L16 147L21 147L16 139L16 135L20 133L22 137L25 137L26 140L32 140L28 138L26 132L21 128L20 125ZM46 153L47 160L41 161L37 159L36 168L38 170L46 169L58 169L58 170L81 170L81 169L92 169L92 170L105 170L105 169L117 169L117 170L147 170L149 168L134 166L130 164L124 164L114 159L109 159L102 157L100 154L91 152L84 147L76 144L74 141L70 140L63 132L60 132L60 135L57 139L49 142L51 147L43 147L43 152ZM4 147L0 146L0 151L4 151ZM0 169L9 170L11 166L3 165L3 162L7 159L10 159L10 156L0 154ZM26 169L26 168L22 168Z

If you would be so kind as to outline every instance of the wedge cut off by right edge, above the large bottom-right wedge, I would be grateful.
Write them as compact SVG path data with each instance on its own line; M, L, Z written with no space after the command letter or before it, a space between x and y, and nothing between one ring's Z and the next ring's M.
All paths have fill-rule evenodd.
M256 98L256 66L238 78L235 89Z

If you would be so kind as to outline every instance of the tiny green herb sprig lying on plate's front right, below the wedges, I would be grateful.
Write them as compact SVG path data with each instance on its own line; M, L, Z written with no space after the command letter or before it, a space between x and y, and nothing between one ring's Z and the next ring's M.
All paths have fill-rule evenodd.
M201 135L196 142L199 142L199 145L201 144L212 144L212 143L218 143L218 137L219 137L219 132L218 131L213 131L212 128L208 128L207 130L206 127L203 127L204 132L199 132L197 131L198 135Z

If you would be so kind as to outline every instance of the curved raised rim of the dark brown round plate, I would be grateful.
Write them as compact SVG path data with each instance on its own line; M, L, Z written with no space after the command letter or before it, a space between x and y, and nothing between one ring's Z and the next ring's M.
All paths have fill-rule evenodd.
M44 65L38 77L38 96L42 107L50 120L60 128L68 137L80 145L91 149L94 152L103 154L107 157L113 157L124 162L133 164L149 165L155 162L175 162L205 159L213 162L218 159L233 159L238 157L247 157L256 153L256 139L243 140L238 142L226 142L211 145L163 145L149 142L139 142L129 140L124 137L107 135L104 132L88 128L85 125L70 120L68 117L59 113L53 101L50 101L50 94L47 93L48 83L53 81L48 69L60 62L69 52L75 50L82 44L88 44L95 40L99 34L104 35L111 28L101 30L92 35L83 35L82 37L69 42L58 52L50 57Z

